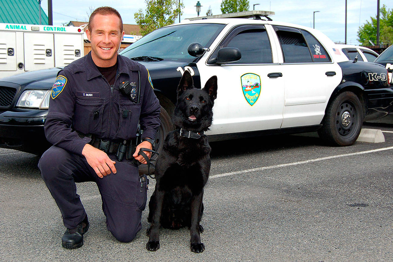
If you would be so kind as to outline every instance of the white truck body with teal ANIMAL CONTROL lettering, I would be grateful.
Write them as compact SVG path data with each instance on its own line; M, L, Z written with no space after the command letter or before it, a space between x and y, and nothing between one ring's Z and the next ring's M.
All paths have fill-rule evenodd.
M0 78L83 57L83 27L0 23Z

